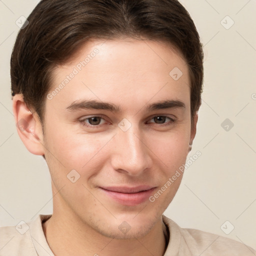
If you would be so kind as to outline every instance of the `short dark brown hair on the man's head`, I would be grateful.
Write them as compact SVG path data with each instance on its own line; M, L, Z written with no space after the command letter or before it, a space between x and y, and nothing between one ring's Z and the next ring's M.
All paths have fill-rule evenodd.
M43 124L50 71L90 38L165 41L186 60L191 116L201 104L203 50L195 25L177 0L41 0L21 27L10 60L11 93Z

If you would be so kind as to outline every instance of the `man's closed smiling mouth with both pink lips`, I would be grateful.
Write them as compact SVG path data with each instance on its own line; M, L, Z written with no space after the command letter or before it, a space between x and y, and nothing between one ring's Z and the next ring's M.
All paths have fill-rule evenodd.
M154 186L110 186L99 187L104 194L117 203L134 206L148 200L150 194L156 188Z

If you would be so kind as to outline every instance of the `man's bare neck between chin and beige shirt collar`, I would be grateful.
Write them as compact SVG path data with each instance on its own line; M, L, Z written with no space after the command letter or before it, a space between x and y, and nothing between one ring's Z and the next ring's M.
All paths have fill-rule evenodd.
M106 237L77 217L53 214L42 224L46 240L55 256L94 255L104 256L162 256L166 249L164 229L160 218L144 237L136 239L114 239Z

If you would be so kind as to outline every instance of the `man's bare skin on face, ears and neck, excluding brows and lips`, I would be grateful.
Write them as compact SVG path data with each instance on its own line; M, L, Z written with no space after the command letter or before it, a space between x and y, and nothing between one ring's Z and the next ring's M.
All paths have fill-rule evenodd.
M95 57L46 99L44 134L22 95L13 97L15 121L23 119L26 124L18 134L31 153L45 155L52 179L53 214L43 223L43 231L57 256L163 255L161 215L182 175L154 202L147 199L135 205L115 201L100 187L150 185L153 195L185 163L197 122L195 114L191 124L188 66L163 42L91 40L52 71L49 92L95 48ZM174 67L183 72L178 80L169 75ZM66 109L83 99L114 103L120 112ZM167 99L180 100L184 107L146 110L147 104ZM98 114L103 119L96 119L97 128L91 119L82 121ZM166 118L157 121L154 116ZM131 125L126 131L118 126L123 118ZM67 178L72 169L80 175L74 183ZM130 226L126 233L118 228L123 221Z

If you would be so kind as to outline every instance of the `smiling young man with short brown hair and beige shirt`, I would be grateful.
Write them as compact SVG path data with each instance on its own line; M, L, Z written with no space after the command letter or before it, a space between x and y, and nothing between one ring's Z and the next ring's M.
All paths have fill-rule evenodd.
M49 167L53 213L23 234L1 227L0 255L255 254L162 215L201 102L202 46L183 6L42 0L28 21L11 56L13 112Z

